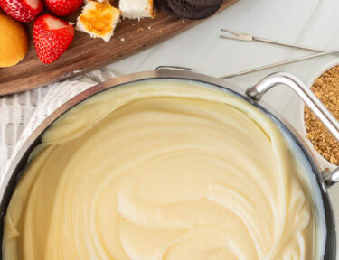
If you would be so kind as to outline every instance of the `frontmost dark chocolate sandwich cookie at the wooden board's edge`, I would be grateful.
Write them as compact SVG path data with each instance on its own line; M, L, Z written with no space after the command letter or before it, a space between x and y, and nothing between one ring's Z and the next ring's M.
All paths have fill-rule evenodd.
M185 0L168 0L167 5L179 17L193 20L207 18L214 14L221 6L221 4L219 4L210 7L199 7L191 5Z

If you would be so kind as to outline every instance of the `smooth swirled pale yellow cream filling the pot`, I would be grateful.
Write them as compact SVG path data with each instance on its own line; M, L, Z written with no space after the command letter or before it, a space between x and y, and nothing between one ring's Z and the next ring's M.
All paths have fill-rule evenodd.
M43 135L5 260L315 259L314 206L276 125L214 88L110 89Z

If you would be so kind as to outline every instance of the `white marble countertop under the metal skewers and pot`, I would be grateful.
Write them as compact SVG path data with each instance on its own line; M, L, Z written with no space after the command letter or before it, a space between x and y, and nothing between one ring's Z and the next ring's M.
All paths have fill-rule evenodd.
M312 53L261 42L221 40L221 28L319 49L339 49L338 12L337 0L240 0L193 29L108 67L119 75L175 65L221 77ZM336 56L328 56L229 80L248 88L271 72L287 71L309 84L318 70L335 59ZM291 90L274 88L264 100L297 127L300 99ZM329 192L339 223L339 184Z

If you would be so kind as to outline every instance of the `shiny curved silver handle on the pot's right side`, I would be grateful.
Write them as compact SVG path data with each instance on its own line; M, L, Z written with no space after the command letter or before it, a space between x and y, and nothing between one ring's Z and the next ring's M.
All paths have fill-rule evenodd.
M261 79L254 87L246 90L247 96L259 101L264 94L278 84L286 85L297 93L299 98L303 99L306 105L315 113L315 116L326 126L332 135L339 141L339 122L327 110L324 104L316 98L311 89L307 88L303 82L295 76L285 73L276 72L268 75L268 77ZM327 187L331 187L334 183L339 181L339 167L334 169L333 172L325 172L324 180Z

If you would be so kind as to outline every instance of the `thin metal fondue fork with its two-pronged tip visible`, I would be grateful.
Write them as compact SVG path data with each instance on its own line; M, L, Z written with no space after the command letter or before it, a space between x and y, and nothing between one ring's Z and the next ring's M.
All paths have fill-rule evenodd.
M326 51L326 50L321 50L321 49L310 48L310 47L298 45L298 44L295 44L295 43L278 42L278 41L274 41L274 40L259 38L259 37L256 37L256 36L253 36L253 35L250 35L250 34L247 34L247 33L237 32L237 31L228 30L228 29L221 29L221 32L228 32L228 33L231 33L233 35L233 36L220 35L219 37L222 38L222 39L231 39L231 40L238 40L238 41L245 41L245 42L253 42L253 41L267 42L267 43L272 43L272 44L276 44L276 45L280 45L280 46L293 47L293 48L297 48L297 49L300 49L300 50L306 50L306 51L315 51L315 52Z

